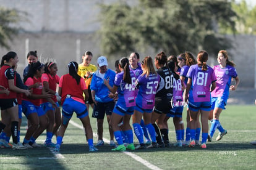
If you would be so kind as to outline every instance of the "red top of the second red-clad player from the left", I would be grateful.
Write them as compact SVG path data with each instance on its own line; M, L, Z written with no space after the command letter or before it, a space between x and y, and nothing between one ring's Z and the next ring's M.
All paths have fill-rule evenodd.
M27 81L24 83L26 86L32 86L35 83L39 83L39 87L32 88L32 94L42 94L43 86L41 83L41 78L28 78ZM27 100L28 102L32 102L36 106L40 106L40 99L28 99L26 95L23 95L23 100Z

